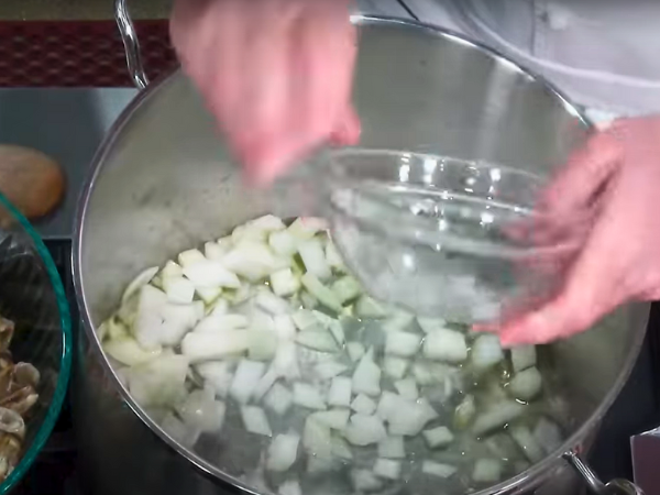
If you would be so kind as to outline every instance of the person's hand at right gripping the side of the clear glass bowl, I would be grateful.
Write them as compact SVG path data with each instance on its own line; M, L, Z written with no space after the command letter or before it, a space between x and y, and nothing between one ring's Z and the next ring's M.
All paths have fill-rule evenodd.
M541 201L566 219L597 206L582 251L552 300L499 329L502 343L566 338L624 302L659 298L659 117L620 120L595 134Z

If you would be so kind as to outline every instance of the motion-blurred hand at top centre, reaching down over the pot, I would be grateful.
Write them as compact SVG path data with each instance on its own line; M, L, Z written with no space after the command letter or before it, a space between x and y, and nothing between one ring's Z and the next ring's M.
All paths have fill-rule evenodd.
M248 178L268 183L324 141L355 144L350 0L177 0L184 72Z

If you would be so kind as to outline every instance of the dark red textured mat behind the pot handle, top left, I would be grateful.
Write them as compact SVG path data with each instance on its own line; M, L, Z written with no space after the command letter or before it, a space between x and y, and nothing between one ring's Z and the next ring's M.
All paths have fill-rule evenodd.
M138 21L150 77L176 67L167 21ZM132 86L113 21L0 22L0 87Z

